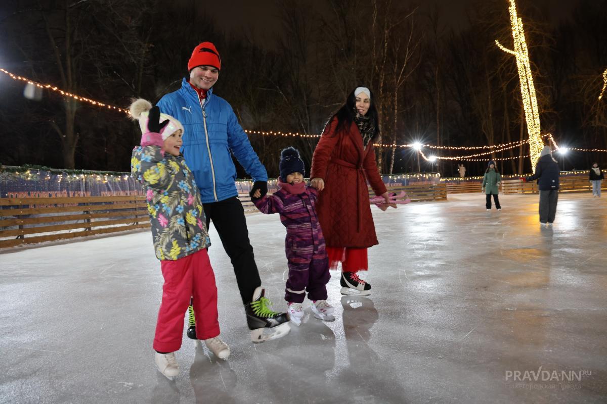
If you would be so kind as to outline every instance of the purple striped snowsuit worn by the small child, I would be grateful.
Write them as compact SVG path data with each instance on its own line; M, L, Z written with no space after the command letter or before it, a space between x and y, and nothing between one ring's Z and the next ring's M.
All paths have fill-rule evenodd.
M279 213L280 221L287 227L287 302L303 303L306 291L310 300L327 300L325 285L331 274L325 238L314 208L317 196L317 191L303 182L296 185L279 182L279 190L271 196L253 199L262 213Z

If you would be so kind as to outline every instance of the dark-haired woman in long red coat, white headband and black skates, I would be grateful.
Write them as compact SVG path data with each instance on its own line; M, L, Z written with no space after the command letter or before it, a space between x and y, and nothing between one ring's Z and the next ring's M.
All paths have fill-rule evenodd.
M316 211L331 269L342 264L342 294L371 293L371 285L357 272L368 270L367 248L378 244L367 180L389 203L375 162L373 141L378 135L373 94L358 87L327 122L312 158L311 185L322 191Z

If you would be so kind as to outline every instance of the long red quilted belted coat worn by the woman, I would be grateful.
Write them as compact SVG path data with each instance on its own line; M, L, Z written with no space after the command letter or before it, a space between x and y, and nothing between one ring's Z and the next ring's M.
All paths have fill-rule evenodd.
M386 192L375 162L375 148L362 145L354 122L336 132L337 119L325 127L314 150L310 178L322 178L316 211L327 247L365 248L378 244L367 180L376 195Z

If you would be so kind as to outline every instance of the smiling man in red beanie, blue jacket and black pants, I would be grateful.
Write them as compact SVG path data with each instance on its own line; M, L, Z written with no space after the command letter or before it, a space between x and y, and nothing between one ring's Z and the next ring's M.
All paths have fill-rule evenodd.
M206 226L209 222L215 225L234 267L251 339L263 342L287 335L289 317L271 310L264 296L245 213L238 199L232 154L253 177L251 194L259 190L263 197L267 193L268 174L231 105L213 94L221 69L222 59L215 45L202 42L188 61L189 78L183 79L179 90L163 96L158 107L183 125L181 152L200 191ZM188 336L195 339L192 323Z

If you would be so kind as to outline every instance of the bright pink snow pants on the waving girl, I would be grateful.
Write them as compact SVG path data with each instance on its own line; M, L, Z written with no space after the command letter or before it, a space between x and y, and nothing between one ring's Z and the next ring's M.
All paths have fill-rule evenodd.
M194 296L197 338L217 337L217 286L206 249L175 261L160 261L160 267L164 285L154 349L174 352L181 348L183 321L191 296Z

